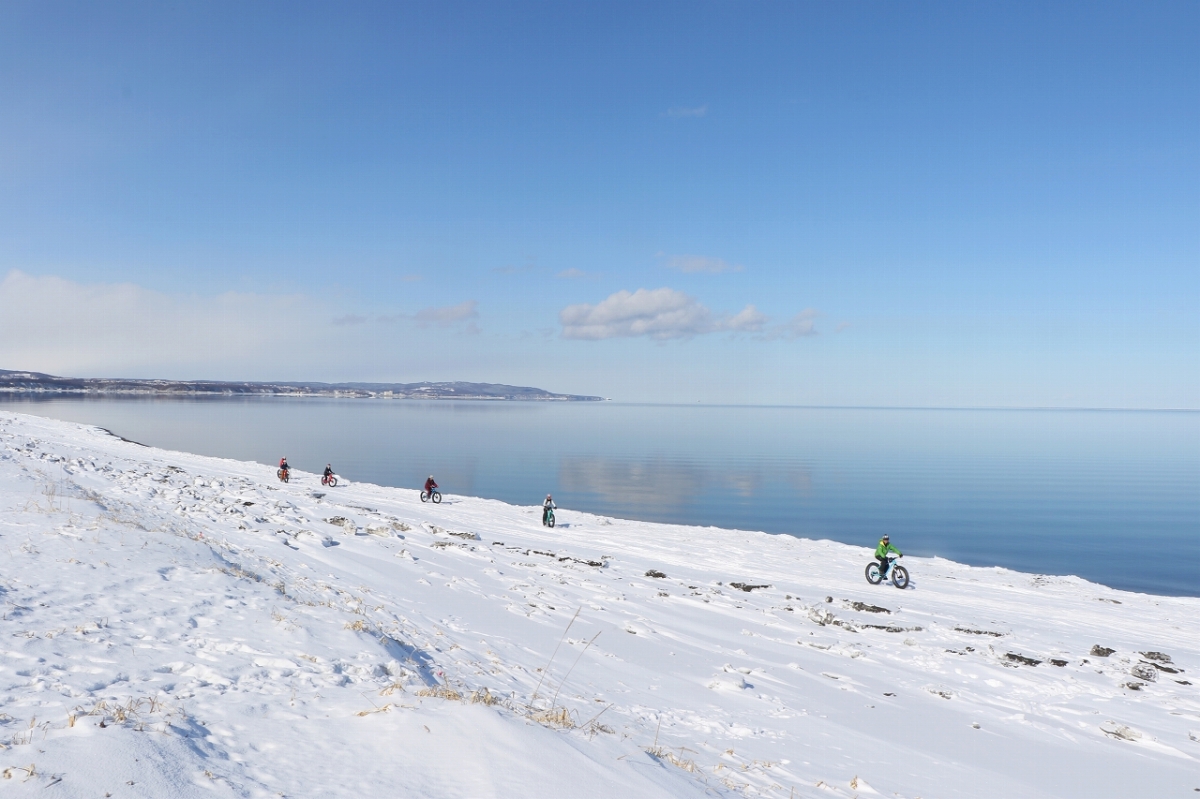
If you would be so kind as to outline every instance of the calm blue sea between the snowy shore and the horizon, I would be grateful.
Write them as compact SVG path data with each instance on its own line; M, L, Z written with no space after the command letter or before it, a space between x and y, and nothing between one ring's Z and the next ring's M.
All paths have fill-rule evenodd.
M0 398L144 444L1200 595L1200 413Z

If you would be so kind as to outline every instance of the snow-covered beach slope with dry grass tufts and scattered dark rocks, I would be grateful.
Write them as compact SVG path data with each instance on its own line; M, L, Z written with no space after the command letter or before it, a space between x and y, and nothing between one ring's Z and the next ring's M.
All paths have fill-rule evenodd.
M0 509L11 795L1200 788L1194 597L913 557L901 591L865 547L547 529L11 413Z

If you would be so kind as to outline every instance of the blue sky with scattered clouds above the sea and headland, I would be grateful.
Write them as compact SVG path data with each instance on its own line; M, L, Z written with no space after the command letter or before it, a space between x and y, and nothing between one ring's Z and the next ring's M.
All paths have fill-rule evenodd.
M7 4L0 368L1200 407L1200 6Z

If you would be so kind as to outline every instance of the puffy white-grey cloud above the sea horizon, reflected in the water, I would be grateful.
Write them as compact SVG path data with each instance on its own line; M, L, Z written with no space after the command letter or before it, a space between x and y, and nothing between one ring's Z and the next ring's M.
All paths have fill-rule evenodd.
M571 305L558 314L564 338L647 336L659 341L712 332L758 332L767 317L752 305L734 316L714 314L695 298L671 288L617 292L596 305Z

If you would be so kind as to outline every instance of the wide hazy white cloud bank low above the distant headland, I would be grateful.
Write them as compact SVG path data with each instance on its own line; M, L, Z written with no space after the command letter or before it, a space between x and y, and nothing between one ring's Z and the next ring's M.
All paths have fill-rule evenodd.
M365 379L380 347L403 364L413 341L380 338L365 313L305 295L168 294L132 283L85 284L12 270L0 277L0 368L70 377L278 380ZM476 334L474 300L425 308L416 340L454 325ZM394 367L395 368L395 367Z

